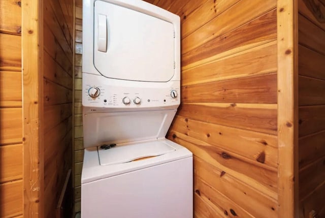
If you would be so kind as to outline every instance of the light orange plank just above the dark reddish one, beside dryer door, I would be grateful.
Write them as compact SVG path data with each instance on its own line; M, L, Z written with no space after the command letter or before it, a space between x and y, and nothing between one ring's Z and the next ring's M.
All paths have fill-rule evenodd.
M231 2L233 3L233 1ZM245 23L250 22L251 20L254 20L255 18L267 13L275 7L276 1L274 0L266 0L263 2L263 4L260 4L259 2L252 2L250 0L239 1L238 4L235 4L233 7L229 8L229 10L221 13L219 16L203 25L197 31L184 38L182 40L182 54L199 48L202 45L208 45L208 42L215 41L216 38L219 38L220 36L231 32L232 30L236 29L239 26L242 26ZM241 19L237 19L238 17ZM253 25L253 23L251 25ZM258 24L258 26L261 25L263 25L263 23ZM264 35L266 35L269 30L266 30L265 28L266 26L263 28ZM261 32L261 30L259 30L259 32ZM254 34L256 34L256 31ZM246 36L243 35L242 30L241 37L244 40L247 40L245 39ZM224 38L223 43L225 41L226 40Z

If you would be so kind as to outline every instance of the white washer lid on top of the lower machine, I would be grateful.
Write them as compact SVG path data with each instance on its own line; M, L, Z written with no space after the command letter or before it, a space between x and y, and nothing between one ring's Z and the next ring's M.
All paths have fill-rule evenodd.
M100 165L122 164L175 151L175 148L161 141L117 145L107 150L101 147L97 149Z

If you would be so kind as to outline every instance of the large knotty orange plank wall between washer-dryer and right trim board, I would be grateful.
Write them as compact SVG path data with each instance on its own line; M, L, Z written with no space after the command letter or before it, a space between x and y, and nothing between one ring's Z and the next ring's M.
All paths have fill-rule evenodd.
M167 137L194 154L194 217L278 217L277 1L148 2L181 17Z

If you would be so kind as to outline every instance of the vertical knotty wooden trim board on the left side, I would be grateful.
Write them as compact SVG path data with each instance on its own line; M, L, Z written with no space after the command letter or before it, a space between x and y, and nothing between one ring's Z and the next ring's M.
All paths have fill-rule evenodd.
M23 215L44 217L43 0L22 1Z

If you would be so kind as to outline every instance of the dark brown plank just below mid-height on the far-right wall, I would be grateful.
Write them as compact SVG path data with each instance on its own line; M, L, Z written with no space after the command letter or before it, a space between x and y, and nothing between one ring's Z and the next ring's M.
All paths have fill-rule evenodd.
M299 107L299 136L325 130L325 105Z

